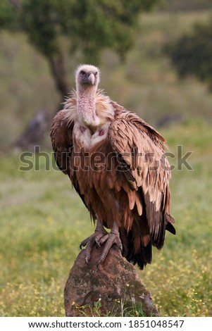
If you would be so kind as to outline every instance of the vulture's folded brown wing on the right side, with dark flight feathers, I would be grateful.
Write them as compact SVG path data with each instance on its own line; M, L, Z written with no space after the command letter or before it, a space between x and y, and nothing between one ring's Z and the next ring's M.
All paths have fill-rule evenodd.
M113 106L118 108L116 103L113 103ZM136 114L129 113L120 106L116 120L111 123L108 137L120 160L125 163L126 180L134 189L128 193L130 209L136 206L138 216L144 216L140 218L140 224L147 223L151 244L161 249L165 230L175 233L171 224L174 220L169 215L170 171L167 170L166 158L166 168L161 164L161 158L164 159L165 139ZM133 229L133 225L131 226ZM142 240L148 246L145 236L142 236L141 242ZM142 246L141 254L144 254L145 244ZM151 256L149 249L146 250L147 255Z

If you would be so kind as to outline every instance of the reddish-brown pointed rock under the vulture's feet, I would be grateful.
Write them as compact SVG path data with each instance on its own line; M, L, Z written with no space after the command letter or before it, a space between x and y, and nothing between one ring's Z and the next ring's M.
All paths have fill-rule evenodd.
M103 247L93 249L88 264L85 249L77 256L64 289L66 316L158 316L135 267L113 247L99 266Z

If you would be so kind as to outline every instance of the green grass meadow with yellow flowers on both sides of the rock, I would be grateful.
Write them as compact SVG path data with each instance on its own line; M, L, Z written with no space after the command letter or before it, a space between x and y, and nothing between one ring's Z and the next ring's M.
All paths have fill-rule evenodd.
M161 316L211 316L211 127L192 120L163 135L173 153L177 144L182 154L193 151L187 161L194 170L173 171L177 235L166 235L140 277ZM176 165L175 158L170 161ZM39 163L39 171L20 171L18 155L1 155L1 316L63 316L69 270L81 240L93 232L68 177L46 171L44 157Z

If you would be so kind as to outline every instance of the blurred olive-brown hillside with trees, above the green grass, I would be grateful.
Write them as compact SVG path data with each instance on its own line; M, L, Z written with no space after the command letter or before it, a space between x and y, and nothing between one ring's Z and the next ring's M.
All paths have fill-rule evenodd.
M0 148L29 134L44 109L48 132L82 62L100 65L101 87L153 125L211 119L211 94L198 82L211 85L210 9L208 0L2 0Z

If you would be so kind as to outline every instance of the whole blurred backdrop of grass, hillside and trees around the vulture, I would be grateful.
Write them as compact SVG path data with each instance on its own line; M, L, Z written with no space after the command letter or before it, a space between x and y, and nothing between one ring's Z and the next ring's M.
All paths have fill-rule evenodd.
M63 316L70 266L94 230L52 155L29 154L39 171L20 171L12 152L33 129L44 135L18 147L51 151L51 119L82 62L170 151L193 152L194 170L175 168L170 184L177 235L140 275L161 315L212 316L211 14L211 0L0 1L0 316Z

